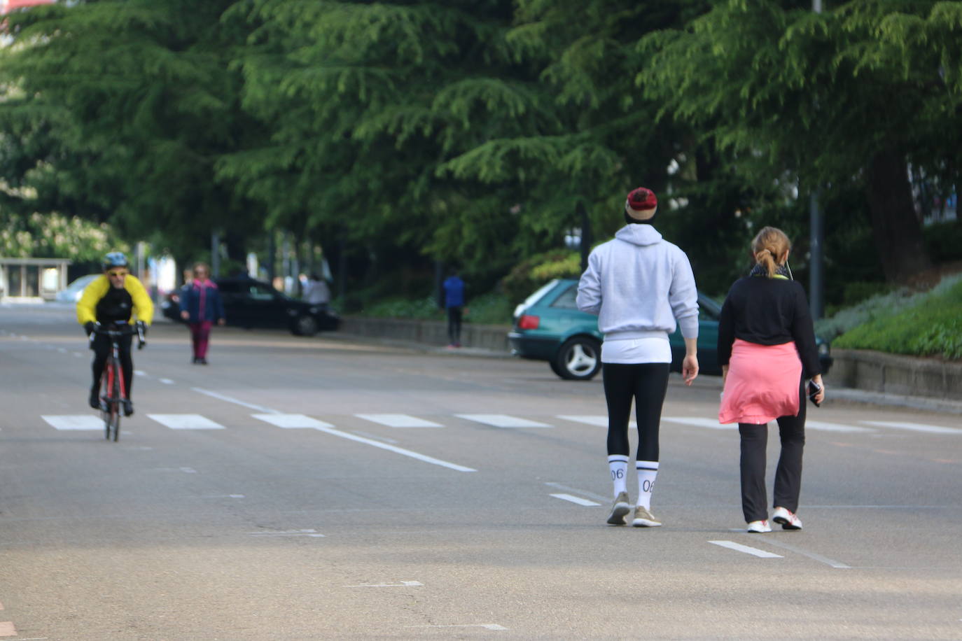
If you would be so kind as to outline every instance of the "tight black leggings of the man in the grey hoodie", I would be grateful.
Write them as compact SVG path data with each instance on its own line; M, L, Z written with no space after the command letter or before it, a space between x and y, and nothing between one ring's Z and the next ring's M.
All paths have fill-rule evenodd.
M629 456L628 419L635 401L638 460L658 460L658 426L668 391L669 363L603 363L608 403L608 455Z

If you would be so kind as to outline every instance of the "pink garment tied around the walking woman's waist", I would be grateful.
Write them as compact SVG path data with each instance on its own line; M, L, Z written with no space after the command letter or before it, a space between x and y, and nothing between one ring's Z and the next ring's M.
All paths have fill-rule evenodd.
M795 343L758 345L736 338L724 382L719 423L764 425L797 416L801 359Z

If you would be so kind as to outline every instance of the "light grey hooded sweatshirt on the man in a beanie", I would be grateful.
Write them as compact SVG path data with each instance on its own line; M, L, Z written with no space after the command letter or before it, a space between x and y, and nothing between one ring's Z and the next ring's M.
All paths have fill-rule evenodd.
M651 225L625 225L588 257L579 309L598 315L606 340L665 337L675 321L698 337L698 294L688 257Z

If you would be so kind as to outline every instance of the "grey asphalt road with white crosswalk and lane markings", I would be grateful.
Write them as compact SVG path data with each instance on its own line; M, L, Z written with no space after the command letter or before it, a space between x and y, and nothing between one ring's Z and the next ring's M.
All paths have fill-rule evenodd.
M600 380L230 328L205 367L184 328L148 338L107 442L72 310L0 307L0 638L962 638L957 415L812 408L805 529L747 534L720 380L672 375L665 525L611 527Z

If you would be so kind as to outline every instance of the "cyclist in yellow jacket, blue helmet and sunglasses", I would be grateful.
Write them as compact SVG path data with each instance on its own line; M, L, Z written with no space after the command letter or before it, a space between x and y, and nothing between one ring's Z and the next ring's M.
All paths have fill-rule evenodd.
M97 323L101 325L142 323L146 328L154 318L154 304L147 290L137 277L129 272L127 257L121 252L111 252L104 257L104 275L94 279L84 289L77 302L77 322L84 326L89 336ZM123 370L127 398L123 402L124 416L134 413L131 402L131 386L134 382L134 360L130 355L132 334L119 338L120 366ZM90 387L90 407L100 407L100 378L111 352L111 339L98 333L93 337L93 384Z

